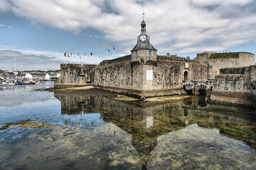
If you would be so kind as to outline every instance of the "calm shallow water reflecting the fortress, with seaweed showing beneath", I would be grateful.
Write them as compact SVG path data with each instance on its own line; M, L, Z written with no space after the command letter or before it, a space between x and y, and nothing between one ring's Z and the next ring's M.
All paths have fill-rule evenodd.
M0 130L0 169L256 169L249 109L195 96L131 103L35 90L49 86L0 86L0 124L59 127Z

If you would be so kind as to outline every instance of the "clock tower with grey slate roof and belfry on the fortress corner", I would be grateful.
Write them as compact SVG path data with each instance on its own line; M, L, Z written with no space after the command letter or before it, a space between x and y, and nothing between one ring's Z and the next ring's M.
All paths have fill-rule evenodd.
M146 23L143 20L140 24L141 33L137 37L137 44L131 50L132 53L132 63L156 63L156 51L149 42L149 36L146 34Z

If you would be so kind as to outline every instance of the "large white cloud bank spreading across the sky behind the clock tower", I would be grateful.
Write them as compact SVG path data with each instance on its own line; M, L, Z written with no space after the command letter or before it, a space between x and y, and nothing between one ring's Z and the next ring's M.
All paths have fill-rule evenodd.
M129 52L140 34L142 4L147 34L159 53L226 51L256 42L255 0L3 0L2 4L0 12L13 12L31 23L73 33L98 29L105 39L119 41L123 52Z

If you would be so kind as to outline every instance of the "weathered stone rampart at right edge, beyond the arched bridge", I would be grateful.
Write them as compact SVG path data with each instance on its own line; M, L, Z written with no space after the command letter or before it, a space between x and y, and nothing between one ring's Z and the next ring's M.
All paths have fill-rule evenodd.
M240 105L255 107L255 71L256 65L238 68L227 68L227 73L215 76L211 100L230 102Z

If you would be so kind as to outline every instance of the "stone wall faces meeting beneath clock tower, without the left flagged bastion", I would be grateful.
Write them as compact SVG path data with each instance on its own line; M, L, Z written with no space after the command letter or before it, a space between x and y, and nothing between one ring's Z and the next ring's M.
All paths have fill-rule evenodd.
M92 85L114 92L156 96L185 93L182 81L186 70L191 77L207 76L207 65L198 61L183 57L182 61L177 61L178 57L175 59L175 57L157 56L157 58L155 65L140 61L136 64L124 62L96 67L93 70ZM188 68L185 68L185 63L188 63ZM153 70L153 80L147 81L146 70Z

